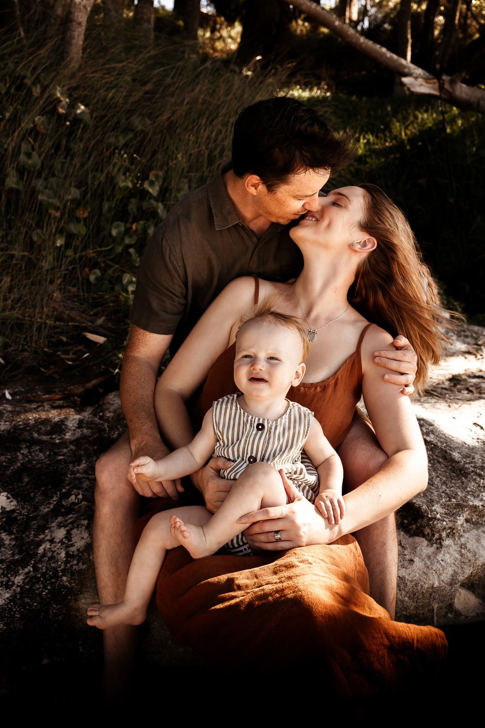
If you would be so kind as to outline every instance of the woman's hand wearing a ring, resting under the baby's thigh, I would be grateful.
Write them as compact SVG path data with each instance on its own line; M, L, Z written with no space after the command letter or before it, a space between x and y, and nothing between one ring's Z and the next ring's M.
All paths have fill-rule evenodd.
M280 551L299 546L329 544L339 538L339 526L324 520L315 507L290 483L283 470L279 473L290 502L287 505L246 513L239 518L238 523L246 528L244 532L249 545L254 545L256 550ZM275 532L281 534L281 539L275 538Z

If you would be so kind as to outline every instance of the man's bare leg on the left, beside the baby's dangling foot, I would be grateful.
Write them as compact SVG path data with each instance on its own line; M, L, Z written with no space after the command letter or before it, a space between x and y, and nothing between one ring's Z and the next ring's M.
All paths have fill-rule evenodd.
M132 451L128 433L96 463L95 521L92 545L97 592L102 604L121 601L135 549L134 532L140 496L127 478ZM116 700L127 689L135 658L137 629L121 625L103 633L103 691Z

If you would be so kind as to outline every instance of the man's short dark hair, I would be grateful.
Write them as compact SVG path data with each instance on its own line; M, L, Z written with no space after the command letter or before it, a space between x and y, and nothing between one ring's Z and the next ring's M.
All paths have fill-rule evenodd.
M353 159L350 132L335 134L313 108L279 96L257 101L234 124L233 170L258 175L268 191L300 171L346 167Z

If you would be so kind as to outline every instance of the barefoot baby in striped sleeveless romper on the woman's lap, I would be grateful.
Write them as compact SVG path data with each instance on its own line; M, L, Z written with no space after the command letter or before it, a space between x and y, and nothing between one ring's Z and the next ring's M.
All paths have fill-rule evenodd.
M220 474L238 482L214 515L203 506L154 515L135 549L123 601L89 606L88 625L107 629L143 622L167 549L182 545L193 558L201 558L226 545L231 553L250 555L238 519L288 502L279 471L315 502L324 518L330 508L340 523L345 515L340 458L313 413L286 399L289 387L303 379L307 355L307 332L297 318L263 301L241 320L234 361L234 381L241 394L217 400L188 446L159 461L140 457L128 473L132 483L136 478L174 480L199 470L214 454L233 461ZM302 448L311 460L307 467ZM275 537L281 539L279 531Z

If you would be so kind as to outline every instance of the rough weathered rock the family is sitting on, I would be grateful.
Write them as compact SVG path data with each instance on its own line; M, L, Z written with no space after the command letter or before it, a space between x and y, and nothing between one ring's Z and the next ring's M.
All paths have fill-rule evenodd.
M485 329L460 326L429 387L414 399L428 446L427 490L398 512L398 620L457 625L485 619ZM3 673L99 659L84 624L95 598L91 528L94 465L124 430L119 395L98 403L25 402L1 392L0 633ZM148 660L197 665L153 614ZM13 676L13 677L12 677Z

